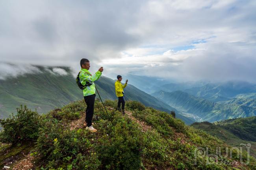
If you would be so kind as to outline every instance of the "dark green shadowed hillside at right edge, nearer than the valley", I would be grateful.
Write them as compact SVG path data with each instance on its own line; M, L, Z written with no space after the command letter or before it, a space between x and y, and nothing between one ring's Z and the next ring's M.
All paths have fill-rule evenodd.
M251 154L256 156L256 117L229 119L215 123L195 122L191 126L204 130L232 146L251 143Z

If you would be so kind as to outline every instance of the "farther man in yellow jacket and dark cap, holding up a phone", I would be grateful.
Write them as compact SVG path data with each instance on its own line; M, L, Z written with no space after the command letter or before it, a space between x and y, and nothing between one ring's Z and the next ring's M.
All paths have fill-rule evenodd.
M118 104L117 104L117 110L121 111L120 106L122 103L122 113L124 114L124 88L127 85L128 80L126 80L125 84L121 84L122 81L122 76L118 75L117 76L117 81L115 82L115 93L118 97Z

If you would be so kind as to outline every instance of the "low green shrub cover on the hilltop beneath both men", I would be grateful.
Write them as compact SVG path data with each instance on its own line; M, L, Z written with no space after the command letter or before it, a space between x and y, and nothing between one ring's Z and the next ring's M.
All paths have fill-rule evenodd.
M95 102L93 122L98 130L96 133L85 128L70 128L71 120L79 119L84 114L86 106L83 101L72 102L40 116L38 137L34 139L37 144L35 155L40 154L36 160L36 169L234 169L232 165L208 165L206 159L200 157L197 158L197 165L194 165L194 151L197 147L208 147L209 153L214 153L216 146L227 146L216 137L188 127L168 113L129 101L126 109L137 120L152 127L142 131L137 121L113 110L116 104L116 101L105 102L112 125L102 103ZM234 160L237 159L226 161ZM238 168L255 168L254 159L251 158L249 166Z

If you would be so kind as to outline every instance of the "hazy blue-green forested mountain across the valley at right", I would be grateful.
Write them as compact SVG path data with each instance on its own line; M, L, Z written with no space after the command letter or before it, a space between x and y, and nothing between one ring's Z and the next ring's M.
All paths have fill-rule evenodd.
M237 117L250 117L256 115L256 108L231 104L219 104L206 99L195 97L183 91L165 92L159 91L152 94L179 111L193 114L200 121L220 121Z

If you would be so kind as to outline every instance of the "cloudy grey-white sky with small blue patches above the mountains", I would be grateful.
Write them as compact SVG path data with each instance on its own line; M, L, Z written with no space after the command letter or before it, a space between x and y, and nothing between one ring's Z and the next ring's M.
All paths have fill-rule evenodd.
M255 0L0 0L0 74L88 58L106 76L255 82L255 16Z

